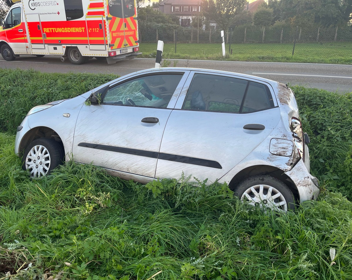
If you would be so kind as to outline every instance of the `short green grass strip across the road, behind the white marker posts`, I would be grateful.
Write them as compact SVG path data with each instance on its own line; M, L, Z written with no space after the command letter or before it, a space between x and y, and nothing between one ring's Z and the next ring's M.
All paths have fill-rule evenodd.
M156 55L157 43L140 44L143 55ZM303 63L333 63L352 64L351 42L297 43L294 56L292 44L231 44L232 55L229 54L229 44L225 44L226 56L222 57L221 44L164 44L163 57L174 59L226 60L226 61L266 61L266 62L303 62Z

